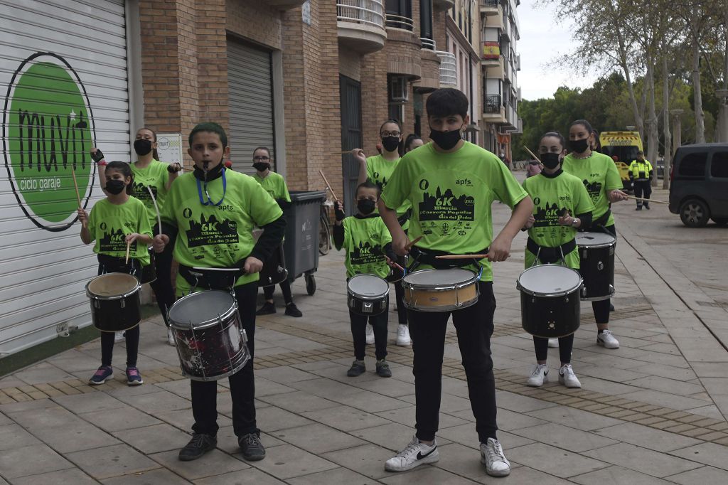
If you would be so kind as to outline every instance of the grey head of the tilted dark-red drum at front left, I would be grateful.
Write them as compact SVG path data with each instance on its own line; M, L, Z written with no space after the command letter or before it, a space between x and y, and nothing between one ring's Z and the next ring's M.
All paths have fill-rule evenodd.
M199 291L175 301L167 316L170 323L181 323L183 328L197 328L218 320L235 306L235 299L225 291Z

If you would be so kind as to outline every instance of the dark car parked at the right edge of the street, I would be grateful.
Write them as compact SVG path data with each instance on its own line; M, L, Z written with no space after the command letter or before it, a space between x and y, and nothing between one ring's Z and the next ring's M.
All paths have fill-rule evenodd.
M728 224L728 143L681 146L670 179L670 212L683 224Z

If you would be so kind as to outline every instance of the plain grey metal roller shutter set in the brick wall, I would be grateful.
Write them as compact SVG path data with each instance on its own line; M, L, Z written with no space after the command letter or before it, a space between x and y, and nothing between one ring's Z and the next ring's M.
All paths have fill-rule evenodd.
M275 158L271 54L228 41L230 158L234 170L252 174L253 150L267 146Z

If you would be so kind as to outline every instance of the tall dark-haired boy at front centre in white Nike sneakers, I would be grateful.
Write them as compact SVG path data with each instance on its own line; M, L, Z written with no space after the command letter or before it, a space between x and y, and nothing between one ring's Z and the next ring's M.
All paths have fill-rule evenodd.
M480 461L492 476L506 476L510 463L496 438L496 397L490 338L495 298L491 261L510 256L513 237L526 224L533 203L498 157L464 141L470 122L467 97L455 89L440 89L427 98L430 123L428 143L405 154L388 181L379 211L392 234L395 253L408 252L410 240L397 222L396 208L409 201L413 207L409 237L422 237L414 248L418 269L447 267L436 255L487 253L486 259L464 261L475 274L483 270L480 298L454 312L420 312L408 309L414 350L416 435L384 468L403 471L438 460L438 430L443 352L448 318L453 317L462 362L467 376L475 430L480 438ZM493 238L491 204L501 200L513 208L510 220ZM477 263L477 264L476 264Z

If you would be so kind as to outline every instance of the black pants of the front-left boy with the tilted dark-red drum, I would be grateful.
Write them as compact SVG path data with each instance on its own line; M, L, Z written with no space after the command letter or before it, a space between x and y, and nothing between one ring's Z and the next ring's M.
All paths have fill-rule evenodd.
M230 398L232 399L232 425L236 436L248 433L260 433L256 427L256 385L253 379L253 337L256 334L256 297L258 282L235 287L235 299L242 328L248 334L248 350L250 360L245 367L228 377L230 382ZM195 433L216 435L218 433L218 383L217 381L190 381L192 389L192 414Z

